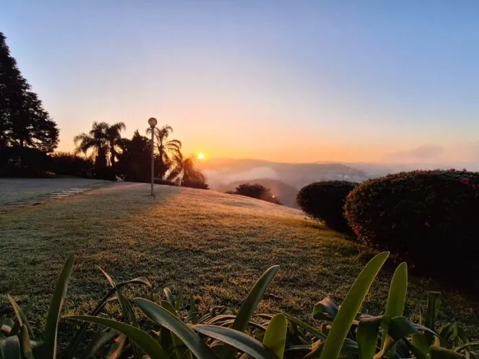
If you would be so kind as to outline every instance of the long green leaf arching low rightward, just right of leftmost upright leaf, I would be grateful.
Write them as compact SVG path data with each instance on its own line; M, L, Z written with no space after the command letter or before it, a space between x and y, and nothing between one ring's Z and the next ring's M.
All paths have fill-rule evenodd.
M151 359L168 359L167 353L164 352L162 347L156 342L151 335L142 329L133 327L125 323L117 322L107 318L100 318L98 316L65 316L67 319L84 320L89 323L103 325L107 328L119 331L121 334L125 334L128 338L135 342L138 347L143 349Z

